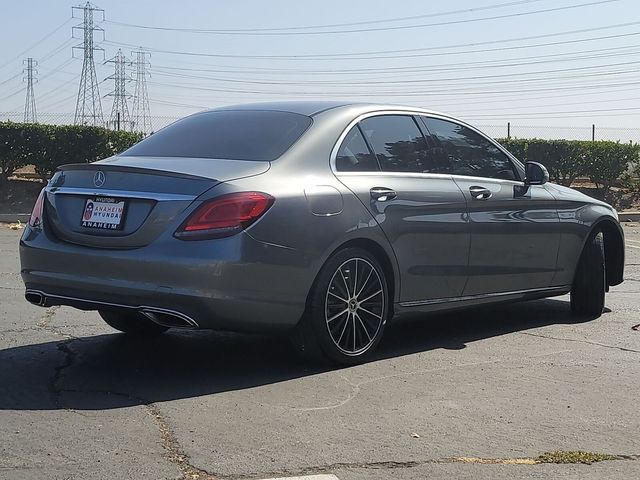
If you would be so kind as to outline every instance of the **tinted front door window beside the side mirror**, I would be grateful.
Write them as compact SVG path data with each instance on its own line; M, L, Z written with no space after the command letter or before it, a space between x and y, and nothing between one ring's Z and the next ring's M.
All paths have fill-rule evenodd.
M518 179L511 159L482 135L447 120L422 118L439 144L441 156L446 155L453 175Z

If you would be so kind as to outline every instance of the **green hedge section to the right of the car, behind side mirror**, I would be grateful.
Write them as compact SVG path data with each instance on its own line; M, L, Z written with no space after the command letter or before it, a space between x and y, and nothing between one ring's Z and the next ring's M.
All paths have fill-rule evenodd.
M539 162L551 180L570 186L578 177L588 177L606 193L628 172L640 171L638 144L582 140L499 140L522 162Z

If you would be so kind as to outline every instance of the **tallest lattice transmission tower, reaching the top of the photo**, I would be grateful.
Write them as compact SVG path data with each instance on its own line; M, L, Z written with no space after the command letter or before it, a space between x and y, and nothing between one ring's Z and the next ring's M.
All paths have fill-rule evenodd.
M100 103L100 92L98 91L98 79L96 77L96 65L93 61L93 52L94 50L103 49L94 45L93 35L95 31L103 32L104 34L104 30L94 25L93 16L95 12L101 12L102 20L104 20L104 10L89 2L87 2L84 7L72 7L73 13L75 13L75 10L83 11L84 21L82 24L73 27L73 31L75 32L75 29L82 29L84 40L82 45L76 45L73 48L82 49L84 58L82 61L82 75L80 77L74 123L76 125L101 126L103 124L102 104Z

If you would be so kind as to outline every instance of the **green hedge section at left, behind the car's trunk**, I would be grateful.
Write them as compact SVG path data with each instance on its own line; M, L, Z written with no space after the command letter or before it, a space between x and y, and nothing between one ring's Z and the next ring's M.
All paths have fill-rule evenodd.
M59 165L95 162L141 139L140 133L101 127L0 122L0 186L26 165L46 181Z

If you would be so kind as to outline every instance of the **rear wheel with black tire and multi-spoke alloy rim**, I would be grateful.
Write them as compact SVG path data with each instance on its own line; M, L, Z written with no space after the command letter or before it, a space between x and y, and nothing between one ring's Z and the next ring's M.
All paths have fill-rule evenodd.
M346 248L320 270L291 340L308 360L362 363L380 343L389 303L380 263L362 248Z

